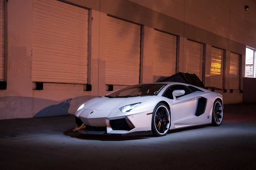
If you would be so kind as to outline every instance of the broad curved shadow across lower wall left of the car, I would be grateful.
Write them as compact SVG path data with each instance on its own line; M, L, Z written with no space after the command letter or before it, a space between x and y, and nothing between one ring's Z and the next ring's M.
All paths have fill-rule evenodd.
M0 119L46 117L74 114L79 106L98 96L78 96L61 101L24 97L17 91L9 91L0 97Z

